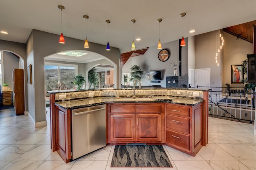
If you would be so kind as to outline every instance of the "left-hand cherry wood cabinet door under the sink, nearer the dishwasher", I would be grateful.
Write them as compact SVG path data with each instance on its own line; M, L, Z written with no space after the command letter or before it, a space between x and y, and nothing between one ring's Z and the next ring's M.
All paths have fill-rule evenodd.
M135 114L110 115L110 141L135 142Z

